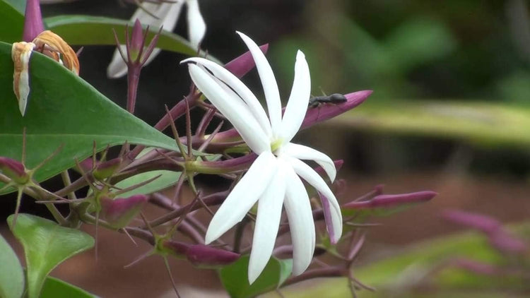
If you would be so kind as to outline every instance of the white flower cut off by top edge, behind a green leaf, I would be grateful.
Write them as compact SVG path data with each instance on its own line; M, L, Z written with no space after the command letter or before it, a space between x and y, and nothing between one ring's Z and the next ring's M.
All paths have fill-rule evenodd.
M153 28L163 27L164 30L172 31L177 25L180 10L182 9L182 4L184 4L184 2L188 6L187 19L189 42L193 47L197 48L206 32L206 24L201 16L201 11L199 11L198 0L160 1L160 3L143 1L143 9L136 9L136 12L131 17L131 22L139 19L143 25L147 24ZM156 16L156 18L153 16ZM120 47L122 47L122 52L125 52L125 46L121 45ZM159 52L160 49L154 49L144 65L149 64L155 59L155 56L158 55ZM125 76L126 73L127 66L122 59L122 55L119 54L118 49L116 49L112 56L112 61L107 68L107 76L109 76L109 78L121 78L122 76Z

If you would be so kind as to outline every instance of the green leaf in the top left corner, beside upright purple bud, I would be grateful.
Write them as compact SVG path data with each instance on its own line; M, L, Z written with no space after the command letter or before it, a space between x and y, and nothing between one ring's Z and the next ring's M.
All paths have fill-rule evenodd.
M22 40L24 9L25 1L23 0L0 0L1 42L20 42Z

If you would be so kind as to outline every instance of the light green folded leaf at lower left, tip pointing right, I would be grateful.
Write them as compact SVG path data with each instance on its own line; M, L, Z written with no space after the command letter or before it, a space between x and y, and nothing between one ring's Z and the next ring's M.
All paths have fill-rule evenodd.
M59 263L94 246L85 232L29 214L19 214L13 227L13 217L7 222L24 248L29 298L39 297L48 273Z

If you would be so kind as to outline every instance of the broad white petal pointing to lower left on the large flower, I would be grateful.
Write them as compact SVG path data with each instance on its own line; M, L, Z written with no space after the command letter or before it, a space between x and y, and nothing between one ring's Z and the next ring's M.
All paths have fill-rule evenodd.
M270 152L261 153L220 206L208 226L205 242L210 244L240 222L269 185L278 163Z

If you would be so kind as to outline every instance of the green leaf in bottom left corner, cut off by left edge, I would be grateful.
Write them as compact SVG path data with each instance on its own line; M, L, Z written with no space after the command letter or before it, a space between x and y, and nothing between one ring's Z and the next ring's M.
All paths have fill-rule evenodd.
M0 297L20 298L24 292L24 271L15 251L0 235Z

